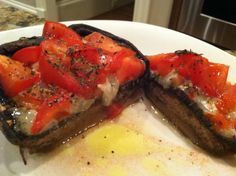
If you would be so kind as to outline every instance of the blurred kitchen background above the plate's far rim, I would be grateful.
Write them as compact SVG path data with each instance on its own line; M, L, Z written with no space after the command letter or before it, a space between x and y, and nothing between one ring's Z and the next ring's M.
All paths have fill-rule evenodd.
M128 20L171 28L234 52L236 6L233 0L218 2L221 4L214 0L0 0L0 31L42 24L45 19Z

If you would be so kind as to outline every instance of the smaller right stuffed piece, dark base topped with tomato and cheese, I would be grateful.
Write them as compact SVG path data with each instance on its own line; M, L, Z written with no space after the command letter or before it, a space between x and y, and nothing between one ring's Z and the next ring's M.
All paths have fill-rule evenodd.
M195 58L193 62L191 58ZM164 117L194 144L212 154L225 155L235 152L235 127L230 126L233 117L232 121L229 119L231 122L227 122L226 118L217 117L220 111L217 102L221 101L219 97L222 97L224 92L221 92L221 84L216 80L221 80L225 85L227 66L211 63L211 66L217 67L218 70L211 70L205 78L206 75L201 72L206 69L204 64L208 64L207 59L191 51L160 54L150 56L149 59L150 80L144 86L145 94ZM188 62L178 62L178 59ZM190 74L198 77L200 82ZM217 75L219 78L215 79ZM209 84L211 87L205 89Z

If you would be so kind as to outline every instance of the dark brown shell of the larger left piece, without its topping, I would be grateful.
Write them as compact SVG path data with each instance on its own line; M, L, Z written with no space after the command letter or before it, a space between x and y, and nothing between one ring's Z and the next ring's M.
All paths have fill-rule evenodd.
M140 88L143 85L144 78L148 77L149 62L145 56L129 41L115 36L111 33L103 31L98 28L94 28L88 25L71 25L74 31L81 36L86 36L92 32L100 32L105 36L112 38L119 45L131 48L136 52L137 57L143 62L145 66L145 72L137 79L131 80L124 85L121 85L118 94L113 101L114 103L121 103L124 107L134 103L140 96ZM0 45L0 54L6 56L12 56L19 49L39 45L43 40L43 37L31 37L21 38L17 41ZM58 123L57 126L37 134L37 135L25 135L20 131L14 129L15 119L8 111L9 107L16 106L15 103L4 95L4 92L0 88L0 100L1 105L6 108L5 111L0 112L0 129L6 138L20 148L27 148L31 153L47 152L51 151L55 147L59 146L63 141L68 138L77 136L87 128L94 126L101 121L105 120L106 107L102 105L100 100L97 100L86 112L82 112L73 115Z

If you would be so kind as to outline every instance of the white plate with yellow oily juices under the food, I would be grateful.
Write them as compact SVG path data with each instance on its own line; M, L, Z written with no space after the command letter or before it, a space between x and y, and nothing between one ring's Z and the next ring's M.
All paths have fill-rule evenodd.
M146 55L191 49L209 60L230 65L229 80L235 82L236 58L185 34L135 22L71 21L85 23L123 37ZM40 35L42 26L0 32L0 44L19 37ZM195 148L167 123L139 102L120 118L91 130L45 155L28 156L24 166L17 147L0 134L0 175L236 175L236 159L216 159ZM126 134L127 133L127 134ZM98 140L108 135L110 141ZM102 136L104 137L104 136ZM101 142L103 141L103 142ZM109 151L115 153L110 154ZM89 162L89 163L88 163Z

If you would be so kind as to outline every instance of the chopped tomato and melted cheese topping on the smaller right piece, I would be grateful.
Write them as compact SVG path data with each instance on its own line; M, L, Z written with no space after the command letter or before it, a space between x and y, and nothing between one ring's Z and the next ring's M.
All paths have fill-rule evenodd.
M228 66L186 50L148 58L152 73L164 88L181 89L219 133L236 135L236 85L227 82Z

